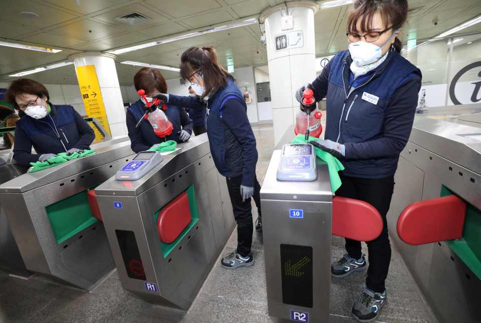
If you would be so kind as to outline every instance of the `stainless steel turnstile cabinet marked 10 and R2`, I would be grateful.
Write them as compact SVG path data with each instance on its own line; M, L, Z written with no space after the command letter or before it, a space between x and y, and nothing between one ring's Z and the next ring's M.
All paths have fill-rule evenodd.
M317 180L279 181L283 144L274 151L261 188L269 314L300 322L328 322L331 283L332 191L326 164Z

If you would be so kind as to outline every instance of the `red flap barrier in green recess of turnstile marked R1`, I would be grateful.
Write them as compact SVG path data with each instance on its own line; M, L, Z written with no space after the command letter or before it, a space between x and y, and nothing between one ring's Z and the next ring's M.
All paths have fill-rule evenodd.
M167 244L174 242L191 221L189 197L183 192L159 212L157 231L160 241Z

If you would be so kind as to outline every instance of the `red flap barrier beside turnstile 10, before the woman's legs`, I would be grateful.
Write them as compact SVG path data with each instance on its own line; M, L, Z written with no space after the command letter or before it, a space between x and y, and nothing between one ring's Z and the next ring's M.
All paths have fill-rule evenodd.
M332 199L332 234L371 241L382 232L382 218L371 204L346 197Z

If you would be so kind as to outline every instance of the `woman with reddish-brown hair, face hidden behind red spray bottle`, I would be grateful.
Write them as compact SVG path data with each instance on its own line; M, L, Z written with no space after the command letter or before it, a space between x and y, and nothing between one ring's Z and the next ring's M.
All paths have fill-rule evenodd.
M167 92L167 83L164 77L159 70L151 67L144 67L135 74L134 86L136 91L145 91L148 102L151 102L155 95ZM144 99L140 99L127 108L127 129L133 151L136 153L145 151L166 140L175 140L177 143L189 140L192 133L192 121L183 108L166 105L167 108L163 112L172 123L173 129L170 135L160 138L154 133L151 124L147 120L142 120L147 104L144 101ZM166 100L164 101L166 102Z

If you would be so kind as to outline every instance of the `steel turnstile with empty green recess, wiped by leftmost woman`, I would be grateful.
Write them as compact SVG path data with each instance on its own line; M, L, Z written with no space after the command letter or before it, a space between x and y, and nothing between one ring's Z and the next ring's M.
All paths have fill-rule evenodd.
M0 203L27 269L89 290L114 269L114 262L88 192L133 155L128 137L92 148L94 155L0 186Z

